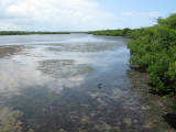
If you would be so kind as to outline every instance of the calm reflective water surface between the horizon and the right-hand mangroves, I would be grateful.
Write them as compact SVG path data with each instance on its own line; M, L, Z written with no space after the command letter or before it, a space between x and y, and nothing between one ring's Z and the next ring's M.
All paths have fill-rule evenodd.
M89 34L0 36L0 45L25 46L0 59L0 131L162 131L162 123L148 122L147 99L143 105L143 95L131 88L128 41Z

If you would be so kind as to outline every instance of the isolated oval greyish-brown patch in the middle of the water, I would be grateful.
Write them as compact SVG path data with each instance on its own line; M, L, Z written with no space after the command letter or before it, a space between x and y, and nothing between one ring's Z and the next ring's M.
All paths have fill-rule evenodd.
M94 70L92 67L86 64L76 64L73 59L46 59L38 62L38 67L41 72L46 75L52 75L54 77L75 77L81 76Z

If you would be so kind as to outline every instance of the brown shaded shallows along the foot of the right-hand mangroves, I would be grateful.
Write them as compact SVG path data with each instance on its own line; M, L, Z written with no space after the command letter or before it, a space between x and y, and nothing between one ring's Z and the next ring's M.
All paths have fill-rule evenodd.
M130 78L130 90L134 95L139 95L138 101L140 108L138 112L146 119L144 128L151 131L174 132L176 128L168 120L165 120L168 113L175 114L169 109L173 98L163 99L162 96L151 94L150 91L153 87L150 86L150 76L147 73L127 70L127 75ZM174 120L176 122L176 119Z

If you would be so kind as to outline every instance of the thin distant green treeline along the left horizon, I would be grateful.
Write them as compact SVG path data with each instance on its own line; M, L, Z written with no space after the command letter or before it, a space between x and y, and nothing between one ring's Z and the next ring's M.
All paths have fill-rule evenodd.
M70 34L72 32L28 32L28 31L0 31L0 35L28 35L28 34Z

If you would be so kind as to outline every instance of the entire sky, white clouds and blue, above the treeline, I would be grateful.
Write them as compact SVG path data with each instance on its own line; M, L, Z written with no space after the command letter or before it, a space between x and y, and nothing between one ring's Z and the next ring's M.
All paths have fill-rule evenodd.
M176 0L0 0L0 31L138 29L169 16Z

